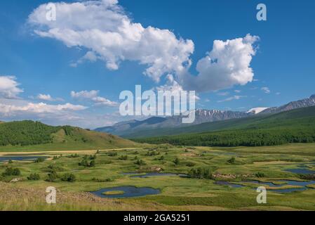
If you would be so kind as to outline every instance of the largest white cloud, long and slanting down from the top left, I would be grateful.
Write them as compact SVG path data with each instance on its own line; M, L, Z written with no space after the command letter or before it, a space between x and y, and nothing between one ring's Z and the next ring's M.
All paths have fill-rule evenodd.
M34 32L68 47L85 47L95 55L93 60L104 60L109 70L117 70L123 60L135 60L147 65L145 75L158 82L162 75L184 70L191 63L193 41L177 39L170 30L133 23L118 1L55 3L56 21L46 20L46 6L29 15Z

